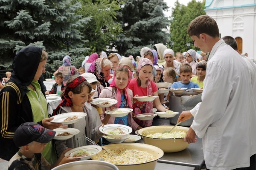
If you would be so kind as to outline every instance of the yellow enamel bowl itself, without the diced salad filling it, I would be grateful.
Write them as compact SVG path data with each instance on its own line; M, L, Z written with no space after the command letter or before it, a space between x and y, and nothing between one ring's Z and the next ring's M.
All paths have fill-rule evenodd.
M163 156L163 150L158 147L151 146L149 144L140 144L140 143L121 143L121 144L109 144L103 146L106 150L110 149L137 149L146 151L152 154L155 159L150 162L145 162L142 164L129 164L129 165L116 165L119 170L154 170L157 164L157 160ZM97 155L101 155L102 151L99 152ZM97 155L91 157L93 160L97 160Z

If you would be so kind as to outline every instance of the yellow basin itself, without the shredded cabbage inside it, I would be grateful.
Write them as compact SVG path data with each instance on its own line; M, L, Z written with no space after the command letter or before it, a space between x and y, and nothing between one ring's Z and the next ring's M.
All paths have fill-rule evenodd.
M179 152L181 150L186 149L189 144L184 142L184 138L176 138L176 139L157 139L157 138L149 138L143 136L143 132L148 134L154 133L163 133L166 130L171 130L173 126L151 126L145 127L137 131L137 133L142 136L145 144L151 144L153 146L159 147L164 152ZM184 131L187 132L189 130L188 127L177 126L173 131Z

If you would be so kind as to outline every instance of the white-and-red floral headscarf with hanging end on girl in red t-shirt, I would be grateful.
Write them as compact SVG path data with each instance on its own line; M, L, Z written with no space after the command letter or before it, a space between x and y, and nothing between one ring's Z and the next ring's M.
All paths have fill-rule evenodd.
M153 68L153 64L150 61L150 59L143 58L143 59L140 59L140 62L137 67L137 71L140 72L140 69L143 68L143 66L145 66L145 65L151 65ZM149 96L149 95L153 96L153 89L151 86L150 78L148 78L148 80L147 80L147 96ZM153 102L147 102L146 108L145 108L145 113L153 113L152 109L153 109ZM152 124L152 122L151 122L151 124Z

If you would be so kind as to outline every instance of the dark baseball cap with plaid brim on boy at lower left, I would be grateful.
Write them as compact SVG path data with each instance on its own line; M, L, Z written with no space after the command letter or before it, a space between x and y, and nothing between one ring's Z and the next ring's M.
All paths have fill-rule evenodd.
M55 131L44 128L37 123L26 122L17 128L13 136L13 141L17 147L25 146L33 141L48 143L52 141L55 133Z

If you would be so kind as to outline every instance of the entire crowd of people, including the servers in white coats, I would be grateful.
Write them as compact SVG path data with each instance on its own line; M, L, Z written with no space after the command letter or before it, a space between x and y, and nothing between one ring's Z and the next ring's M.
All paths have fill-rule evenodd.
M207 24L211 27L201 28ZM193 20L188 33L194 45L204 52L198 54L189 49L175 54L158 43L153 49L142 48L141 56L135 59L118 53L93 53L85 57L79 69L71 65L70 56L65 56L63 65L53 73L56 83L51 91L43 89L40 80L45 73L47 52L34 46L23 48L16 54L13 72L4 80L7 82L0 91L0 158L11 160L10 169L17 165L35 167L39 164L49 169L77 161L64 153L88 145L84 136L104 144L99 128L106 124L127 125L134 131L151 126L153 120L141 121L134 116L153 113L153 108L168 111L164 102L168 101L169 94L158 94L156 85L168 82L168 88L204 89L202 102L191 111L182 112L178 122L194 116L184 140L192 143L197 141L196 135L203 138L208 169L255 167L253 130L256 127L253 123L256 116L253 113L256 107L253 101L256 95L250 95L256 86L255 65L247 59L244 62L237 49L231 48L232 37L219 38L218 26L209 16ZM249 71L247 65L250 65ZM53 118L47 112L46 94L59 94L62 98L51 116L69 112L84 112L87 116L65 126L50 122ZM140 102L134 98L138 96L159 97L153 102ZM117 103L99 108L90 103L97 98L116 99ZM105 110L114 108L131 108L133 112L123 117L105 114ZM242 118L241 113L244 113ZM67 140L52 140L52 130L58 127L72 127L80 132Z

